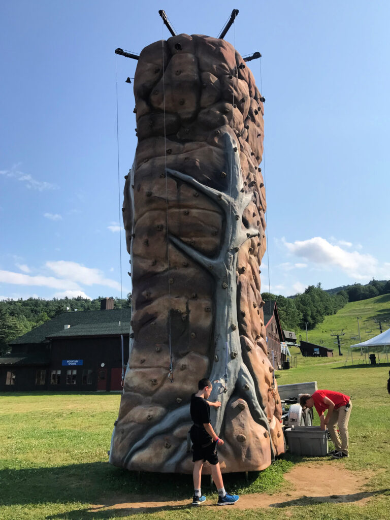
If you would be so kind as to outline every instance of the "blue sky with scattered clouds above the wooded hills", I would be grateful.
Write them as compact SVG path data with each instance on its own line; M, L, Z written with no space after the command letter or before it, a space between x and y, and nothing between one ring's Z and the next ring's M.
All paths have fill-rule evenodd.
M14 0L0 7L0 298L120 296L120 190L136 148L139 52L177 32L226 36L265 102L263 290L390 278L390 3ZM123 233L123 231L122 231ZM124 237L122 294L131 290Z

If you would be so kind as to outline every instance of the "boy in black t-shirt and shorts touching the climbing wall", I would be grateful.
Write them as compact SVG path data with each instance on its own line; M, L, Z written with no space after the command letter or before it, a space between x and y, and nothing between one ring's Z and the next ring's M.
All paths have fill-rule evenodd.
M200 483L202 478L203 463L207 460L211 464L211 474L218 489L217 505L234 504L239 499L238 495L228 495L224 488L222 474L220 472L217 445L223 446L224 441L219 439L210 424L210 407L220 407L220 402L207 401L213 386L208 379L201 379L198 383L198 393L191 396L191 426L190 436L192 440L193 466L193 500L192 505L201 505L206 497L202 496Z

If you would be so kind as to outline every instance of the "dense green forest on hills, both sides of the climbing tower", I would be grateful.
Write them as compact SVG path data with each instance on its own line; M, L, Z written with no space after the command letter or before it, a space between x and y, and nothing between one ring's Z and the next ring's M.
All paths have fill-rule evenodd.
M344 285L334 293L333 289L323 290L321 284L309 285L302 294L285 297L262 293L263 300L275 300L278 306L282 328L285 330L313 329L325 316L335 314L347 302L356 302L390 293L390 280L371 280L368 284ZM0 301L0 354L8 350L7 345L34 327L66 311L99 310L99 296L95 300L77 298L28 298L27 300ZM131 294L127 298L114 298L114 308L131 306Z

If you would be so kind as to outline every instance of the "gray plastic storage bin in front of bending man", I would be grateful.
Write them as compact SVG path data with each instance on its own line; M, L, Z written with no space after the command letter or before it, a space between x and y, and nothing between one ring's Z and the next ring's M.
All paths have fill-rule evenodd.
M328 430L320 426L292 426L284 430L290 453L324 457L328 453Z

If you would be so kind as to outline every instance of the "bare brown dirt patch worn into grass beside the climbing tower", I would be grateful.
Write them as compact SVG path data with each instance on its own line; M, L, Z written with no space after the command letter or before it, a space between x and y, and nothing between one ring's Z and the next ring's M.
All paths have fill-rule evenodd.
M306 505L322 502L366 503L376 492L362 491L362 487L371 477L370 472L353 473L345 469L339 461L330 463L309 463L296 465L284 478L287 480L285 491L275 495L256 493L242 495L233 506L238 509L284 508L291 505ZM381 491L378 491L381 492ZM130 499L130 500L129 500ZM156 497L133 495L116 499L105 505L96 505L92 509L122 510L123 514L152 512L161 509L183 509L190 506L191 500L167 501ZM215 500L207 500L202 507L216 505Z

